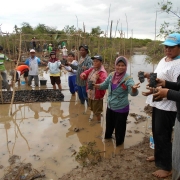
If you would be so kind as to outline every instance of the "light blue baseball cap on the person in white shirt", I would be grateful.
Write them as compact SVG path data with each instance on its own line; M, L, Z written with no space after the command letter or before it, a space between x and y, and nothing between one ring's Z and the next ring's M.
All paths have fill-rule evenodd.
M162 43L166 46L177 46L180 45L180 34L179 33L172 33L169 34L166 40Z

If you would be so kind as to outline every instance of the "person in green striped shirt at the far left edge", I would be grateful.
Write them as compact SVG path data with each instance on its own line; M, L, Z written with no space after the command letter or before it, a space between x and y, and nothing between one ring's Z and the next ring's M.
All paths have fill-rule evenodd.
M13 60L10 60L7 56L5 56L3 54L3 47L0 46L0 73L1 73L1 76L2 76L2 79L3 79L3 84L5 86L5 88L7 90L10 89L10 86L8 84L8 81L7 81L7 73L6 73L6 68L5 68L5 61L13 61Z

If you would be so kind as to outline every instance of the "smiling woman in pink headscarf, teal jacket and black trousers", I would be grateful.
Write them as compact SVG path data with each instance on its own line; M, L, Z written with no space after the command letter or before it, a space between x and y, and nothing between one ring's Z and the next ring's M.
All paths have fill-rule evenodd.
M116 146L124 143L126 121L129 114L128 94L137 96L139 83L135 84L127 74L127 59L120 56L115 61L115 72L109 74L98 89L108 89L105 139L112 138L115 130Z

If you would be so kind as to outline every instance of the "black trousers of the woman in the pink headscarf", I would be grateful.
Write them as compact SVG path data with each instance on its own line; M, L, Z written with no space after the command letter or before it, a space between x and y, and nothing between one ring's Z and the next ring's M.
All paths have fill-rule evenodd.
M114 112L107 108L106 110L106 132L105 139L112 137L113 131L115 129L116 146L124 143L124 137L126 133L126 121L127 113Z

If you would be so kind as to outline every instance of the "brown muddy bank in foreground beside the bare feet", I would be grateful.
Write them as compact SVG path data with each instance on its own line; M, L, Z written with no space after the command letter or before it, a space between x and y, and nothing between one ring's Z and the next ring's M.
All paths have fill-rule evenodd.
M120 154L114 155L111 159L103 159L96 166L76 168L70 173L59 178L60 180L157 180L152 175L156 170L153 162L147 162L146 157L151 156L153 150L149 148L149 138L143 142L122 150ZM170 180L171 177L166 178Z

